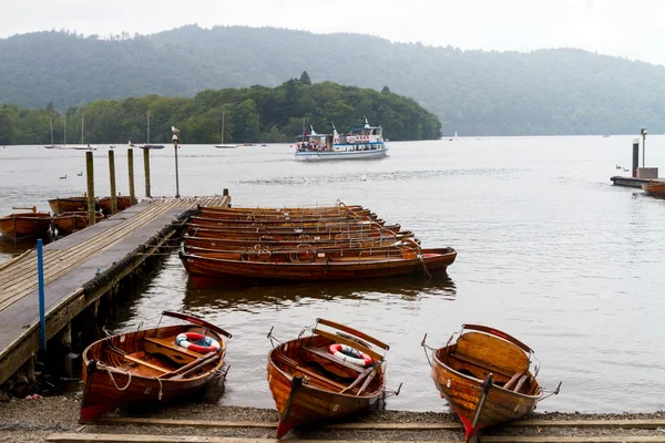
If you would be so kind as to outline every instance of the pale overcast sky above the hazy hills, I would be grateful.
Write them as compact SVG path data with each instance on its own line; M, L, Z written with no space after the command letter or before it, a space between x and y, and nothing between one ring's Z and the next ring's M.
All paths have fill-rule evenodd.
M665 0L0 0L0 16L2 38L244 24L462 50L570 47L665 64Z

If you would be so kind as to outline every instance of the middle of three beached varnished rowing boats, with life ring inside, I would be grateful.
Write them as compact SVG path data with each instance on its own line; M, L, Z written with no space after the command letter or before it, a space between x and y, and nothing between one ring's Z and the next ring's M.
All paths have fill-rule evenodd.
M334 344L365 353L365 365L342 361L341 354L334 357ZM277 437L305 423L352 418L378 405L386 395L385 353L389 348L356 329L324 319L317 319L310 337L273 348L267 378L279 413Z

